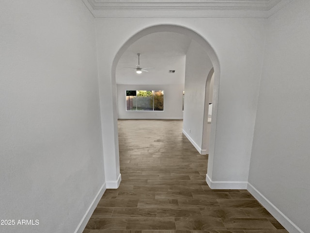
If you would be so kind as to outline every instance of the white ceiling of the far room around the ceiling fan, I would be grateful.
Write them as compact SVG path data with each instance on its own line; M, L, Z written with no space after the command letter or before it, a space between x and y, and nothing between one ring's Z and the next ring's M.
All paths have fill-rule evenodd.
M116 67L117 84L184 83L185 55L191 38L184 34L160 32L148 34L134 42L122 55ZM140 53L140 67L154 67L137 74L135 69ZM175 70L175 73L169 73Z

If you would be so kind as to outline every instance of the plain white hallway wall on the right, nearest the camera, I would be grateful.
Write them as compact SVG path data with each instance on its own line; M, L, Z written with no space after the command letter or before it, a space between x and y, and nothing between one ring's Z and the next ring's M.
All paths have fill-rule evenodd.
M248 179L290 233L310 229L309 10L310 1L295 0L268 19Z

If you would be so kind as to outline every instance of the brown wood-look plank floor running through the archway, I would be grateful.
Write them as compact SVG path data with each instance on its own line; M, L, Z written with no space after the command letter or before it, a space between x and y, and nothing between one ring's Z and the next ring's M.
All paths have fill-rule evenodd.
M288 233L247 190L211 190L182 120L119 120L122 182L83 233Z

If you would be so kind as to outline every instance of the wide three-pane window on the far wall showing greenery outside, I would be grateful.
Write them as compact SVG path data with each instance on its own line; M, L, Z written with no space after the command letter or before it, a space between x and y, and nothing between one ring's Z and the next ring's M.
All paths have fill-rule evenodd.
M126 111L164 111L164 91L126 91Z

